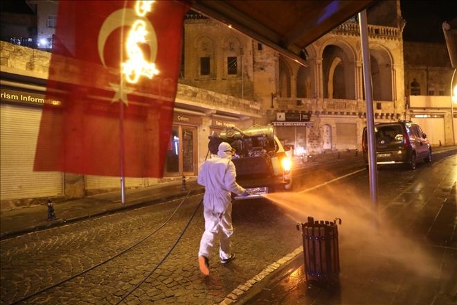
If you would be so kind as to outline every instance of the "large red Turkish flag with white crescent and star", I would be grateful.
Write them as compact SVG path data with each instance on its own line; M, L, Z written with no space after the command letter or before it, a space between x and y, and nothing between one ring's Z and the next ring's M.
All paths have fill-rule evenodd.
M188 8L59 1L35 171L163 176Z

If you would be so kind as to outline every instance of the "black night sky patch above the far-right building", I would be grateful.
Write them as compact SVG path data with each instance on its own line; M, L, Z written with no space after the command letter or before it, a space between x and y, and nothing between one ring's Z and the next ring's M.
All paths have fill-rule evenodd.
M445 43L442 23L457 17L455 0L400 0L406 20L403 39L412 42Z

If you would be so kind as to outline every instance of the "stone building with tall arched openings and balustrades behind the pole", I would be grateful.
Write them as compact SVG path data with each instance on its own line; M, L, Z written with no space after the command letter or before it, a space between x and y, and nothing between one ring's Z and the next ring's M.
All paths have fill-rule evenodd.
M400 3L383 1L367 14L375 121L397 121L405 115ZM354 18L341 24L305 55L309 67L278 59L277 100L269 114L280 138L299 153L360 149L366 104L359 24ZM276 120L288 112L308 113L311 120L292 126Z

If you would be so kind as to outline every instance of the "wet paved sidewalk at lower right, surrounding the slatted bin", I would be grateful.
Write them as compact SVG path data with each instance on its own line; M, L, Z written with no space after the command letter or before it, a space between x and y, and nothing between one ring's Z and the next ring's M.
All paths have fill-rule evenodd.
M348 228L347 220L363 220L341 217L336 281L307 281L314 278L301 253L245 304L457 304L457 156L423 168L411 183L401 177L406 175L400 172L402 180L395 181L406 185L382 182L398 193L379 200L384 204L375 230L354 223Z

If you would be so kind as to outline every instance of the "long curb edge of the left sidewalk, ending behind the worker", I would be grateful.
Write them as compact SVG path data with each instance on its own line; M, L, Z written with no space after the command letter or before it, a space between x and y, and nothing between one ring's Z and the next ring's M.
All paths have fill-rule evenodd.
M55 220L51 220L47 223L35 225L33 227L26 227L24 229L18 229L18 230L14 230L14 231L10 231L10 232L0 233L0 241L6 240L8 238L13 238L16 236L24 235L24 234L36 232L36 231L43 230L43 229L61 227L62 225L67 225L70 223L77 223L78 221L81 221L81 220L98 218L98 217L102 217L102 216L107 216L109 214L120 213L122 211L128 211L128 210L132 210L132 209L138 209L141 207L147 207L150 205L159 204L161 202L165 202L165 201L169 201L169 200L177 200L179 198L185 198L186 195L189 195L189 196L198 195L200 193L204 193L203 188L197 188L197 189L191 190L190 192L181 191L180 193L175 193L175 194L163 197L163 198L156 198L156 199L152 199L152 200L151 199L142 199L140 202L136 202L136 203L132 203L132 204L125 204L124 206L115 207L114 209L104 209L102 211L98 211L97 213L88 214L86 216L77 216L77 217L73 217L73 218L69 218L69 219L56 218ZM43 220L43 221L46 221L46 220Z

